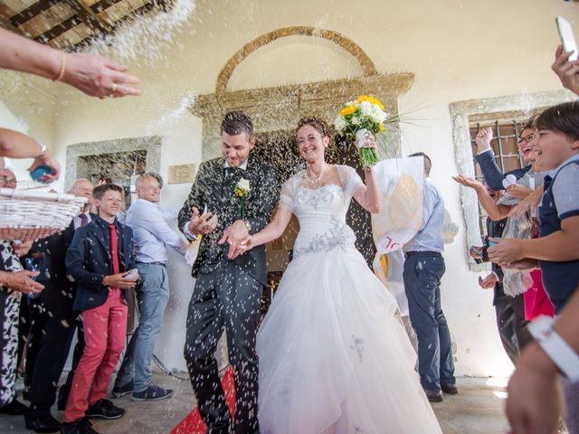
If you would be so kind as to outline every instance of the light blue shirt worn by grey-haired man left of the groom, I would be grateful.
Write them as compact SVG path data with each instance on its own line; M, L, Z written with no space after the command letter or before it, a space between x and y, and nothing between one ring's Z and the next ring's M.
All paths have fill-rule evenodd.
M166 222L174 211L162 212L157 203L137 199L127 212L125 224L133 230L137 262L166 262L166 246L185 255L187 243Z

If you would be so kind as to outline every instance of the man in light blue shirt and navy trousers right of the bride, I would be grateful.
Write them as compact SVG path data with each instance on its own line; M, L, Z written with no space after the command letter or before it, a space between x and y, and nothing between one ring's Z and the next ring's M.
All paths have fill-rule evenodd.
M408 298L410 321L418 338L418 372L422 388L431 402L441 402L442 392L456 394L451 332L441 308L441 278L445 271L442 250L444 202L430 182L431 159L419 152L411 156L424 159L422 228L403 250L404 291Z

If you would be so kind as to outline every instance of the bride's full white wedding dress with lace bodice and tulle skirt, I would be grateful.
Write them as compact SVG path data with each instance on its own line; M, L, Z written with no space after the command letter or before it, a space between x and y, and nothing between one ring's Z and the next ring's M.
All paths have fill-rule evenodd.
M261 433L441 433L394 297L346 225L362 180L337 169L342 185L304 188L300 173L281 190L300 229L257 337Z

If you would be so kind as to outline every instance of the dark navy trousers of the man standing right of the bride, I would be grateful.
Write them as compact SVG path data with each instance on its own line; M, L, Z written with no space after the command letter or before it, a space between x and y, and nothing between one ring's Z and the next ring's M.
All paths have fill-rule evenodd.
M441 382L456 382L451 332L441 309L444 271L444 259L438 252L409 252L404 261L404 291L418 338L418 372L422 387L428 391L440 391Z

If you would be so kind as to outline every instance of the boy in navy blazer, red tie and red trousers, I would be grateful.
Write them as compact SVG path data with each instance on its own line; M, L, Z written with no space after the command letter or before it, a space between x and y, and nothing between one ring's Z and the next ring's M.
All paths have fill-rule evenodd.
M85 346L64 411L63 434L95 434L87 418L119 419L125 413L105 396L125 344L128 289L138 280L138 272L129 273L136 268L133 235L116 219L122 187L102 184L93 196L98 215L74 233L66 251L67 273L78 285L73 308L82 314Z

